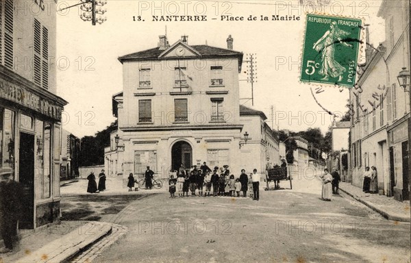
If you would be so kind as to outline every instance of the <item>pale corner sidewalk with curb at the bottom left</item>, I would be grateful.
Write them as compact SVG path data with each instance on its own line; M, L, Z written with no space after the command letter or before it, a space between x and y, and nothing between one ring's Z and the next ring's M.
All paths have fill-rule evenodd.
M64 262L111 230L110 223L95 221L62 221L36 230L21 230L18 247L0 254L0 262Z

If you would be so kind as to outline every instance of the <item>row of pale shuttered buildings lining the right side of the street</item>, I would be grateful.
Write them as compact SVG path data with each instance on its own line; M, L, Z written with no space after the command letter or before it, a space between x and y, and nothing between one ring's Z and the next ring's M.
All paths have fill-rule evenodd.
M350 92L352 184L362 187L365 167L375 166L379 194L397 200L408 199L410 188L410 86L404 89L397 79L401 67L410 69L409 14L407 1L382 1L378 16L386 21L386 40L368 46L366 64L359 68L361 88Z

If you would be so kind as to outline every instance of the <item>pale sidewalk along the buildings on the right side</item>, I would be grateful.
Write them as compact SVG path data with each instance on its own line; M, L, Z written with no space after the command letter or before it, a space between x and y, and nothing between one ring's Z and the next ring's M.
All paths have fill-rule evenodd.
M410 222L410 201L399 202L393 197L364 193L361 188L345 182L340 182L340 190L388 220Z

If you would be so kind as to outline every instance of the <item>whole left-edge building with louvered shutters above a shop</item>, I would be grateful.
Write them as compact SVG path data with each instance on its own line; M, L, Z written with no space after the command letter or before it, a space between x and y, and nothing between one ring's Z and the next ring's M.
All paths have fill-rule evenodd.
M0 173L23 186L23 220L33 229L60 215L61 115L55 95L56 1L0 3Z

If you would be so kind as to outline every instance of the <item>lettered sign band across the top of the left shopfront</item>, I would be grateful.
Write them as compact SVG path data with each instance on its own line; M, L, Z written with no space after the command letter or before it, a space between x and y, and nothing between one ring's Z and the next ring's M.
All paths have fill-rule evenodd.
M0 97L32 110L36 110L37 112L56 120L60 121L62 118L62 107L55 105L52 101L39 97L29 90L25 90L20 86L12 84L5 79L0 79Z

